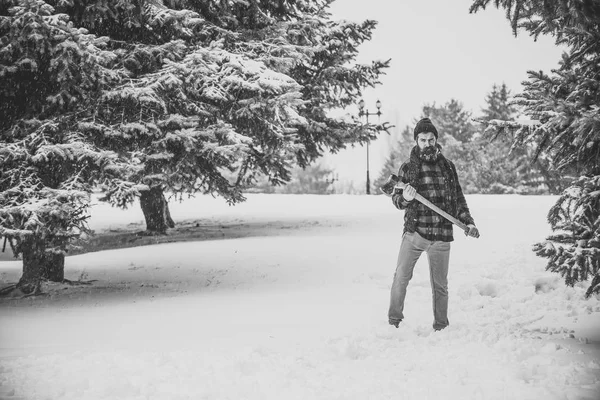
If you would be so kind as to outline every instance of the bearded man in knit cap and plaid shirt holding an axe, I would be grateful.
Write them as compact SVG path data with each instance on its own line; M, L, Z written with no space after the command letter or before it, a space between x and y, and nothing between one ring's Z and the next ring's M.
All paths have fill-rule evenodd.
M454 164L446 159L437 143L438 131L429 118L414 128L416 146L410 159L398 170L400 181L408 185L396 189L392 201L404 210L404 232L392 284L388 319L398 328L404 319L404 299L408 283L422 252L427 253L433 293L433 329L439 331L448 321L448 266L452 223L415 200L421 196L467 225L465 234L479 237L467 201L458 182Z

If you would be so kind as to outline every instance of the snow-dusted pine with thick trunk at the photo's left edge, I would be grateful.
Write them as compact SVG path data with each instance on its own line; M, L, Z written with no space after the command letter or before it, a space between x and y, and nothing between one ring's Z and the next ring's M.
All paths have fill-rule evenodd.
M23 256L26 293L63 280L65 252L87 230L87 183L115 168L77 129L118 77L104 45L44 1L0 2L0 235Z

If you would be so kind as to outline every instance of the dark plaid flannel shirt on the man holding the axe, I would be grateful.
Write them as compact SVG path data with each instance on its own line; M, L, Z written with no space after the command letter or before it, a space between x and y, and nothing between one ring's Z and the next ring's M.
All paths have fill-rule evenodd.
M456 210L457 215L455 217L461 222L469 225L474 224L473 218L471 217L467 201L458 182L458 176L456 175L456 169L454 165L449 162L452 167L451 173L454 174L456 185L451 187L444 177L441 163L422 163L421 173L419 174L419 187L416 188L419 194L431 201L433 204L441 208L442 210L452 214L450 210L454 207L451 203L451 197L449 196L450 190L455 190L456 198ZM402 182L409 182L408 177L408 164L405 163L400 167L398 171L398 177ZM414 226L421 236L431 241L442 241L451 242L454 240L452 223L446 218L437 214L435 211L430 210L425 205L421 204L416 200L407 202L402 196L402 191L397 191L392 196L394 205L400 210L406 210L404 215L404 230L412 231L410 228ZM412 212L409 212L412 211ZM408 219L413 219L409 221Z

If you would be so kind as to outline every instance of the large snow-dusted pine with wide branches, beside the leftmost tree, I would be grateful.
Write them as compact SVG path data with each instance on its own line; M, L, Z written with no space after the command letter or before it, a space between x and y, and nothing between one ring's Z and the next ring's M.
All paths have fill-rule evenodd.
M140 196L149 231L172 223L166 192L235 203L257 174L285 182L294 163L375 137L327 116L387 67L352 65L375 23L331 21L329 0L57 3L106 35L129 74L81 125L129 165L103 182L106 198Z

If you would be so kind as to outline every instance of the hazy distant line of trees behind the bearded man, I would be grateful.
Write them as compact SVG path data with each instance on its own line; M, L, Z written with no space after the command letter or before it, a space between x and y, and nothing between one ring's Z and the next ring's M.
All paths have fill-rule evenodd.
M383 168L376 171L371 193L408 159L415 145L414 124L429 117L438 128L439 143L444 155L456 165L463 191L468 194L560 194L574 179L574 171L558 173L547 157L532 161L535 146L513 146L510 136L485 133L489 121L510 121L521 118L511 91L502 83L494 85L485 98L485 106L475 115L461 101L450 99L444 104L424 104L419 118L412 125L390 128L390 149ZM266 177L258 179L249 191L285 194L364 194L361 182L340 182L339 171L317 161L306 168L292 169L285 185L273 186Z

